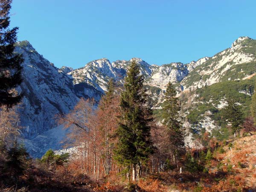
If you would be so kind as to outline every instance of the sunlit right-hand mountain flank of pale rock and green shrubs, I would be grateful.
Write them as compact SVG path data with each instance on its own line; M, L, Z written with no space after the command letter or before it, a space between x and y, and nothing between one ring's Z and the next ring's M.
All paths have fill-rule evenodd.
M224 137L227 122L222 119L227 99L242 106L249 114L256 74L256 41L241 37L231 48L208 58L195 67L177 86L187 127L193 132L209 131Z

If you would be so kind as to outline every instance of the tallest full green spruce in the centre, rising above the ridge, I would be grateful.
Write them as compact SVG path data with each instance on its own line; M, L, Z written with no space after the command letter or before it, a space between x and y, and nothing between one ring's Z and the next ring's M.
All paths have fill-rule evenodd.
M151 111L145 105L143 76L135 61L129 66L124 87L120 102L122 114L116 131L118 142L115 159L127 168L132 168L132 179L139 180L143 162L153 153L153 144L148 125L152 120Z

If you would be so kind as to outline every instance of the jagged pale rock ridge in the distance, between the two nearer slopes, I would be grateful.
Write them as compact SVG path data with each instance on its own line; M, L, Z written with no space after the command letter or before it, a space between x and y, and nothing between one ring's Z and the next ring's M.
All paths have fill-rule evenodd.
M73 76L74 84L86 82L97 90L104 92L109 79L113 78L123 83L127 69L131 61L140 64L141 74L144 75L145 84L165 88L166 84L180 82L188 73L187 66L182 63L164 64L161 66L150 65L141 58L131 58L129 61L117 60L110 62L106 58L91 61L85 67L73 70L69 75Z

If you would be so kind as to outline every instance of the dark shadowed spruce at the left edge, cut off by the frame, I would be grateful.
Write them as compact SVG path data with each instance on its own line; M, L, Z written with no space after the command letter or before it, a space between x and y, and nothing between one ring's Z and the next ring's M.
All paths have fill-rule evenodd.
M21 83L22 55L13 55L17 27L9 29L12 0L0 0L0 107L11 108L22 95L15 88Z

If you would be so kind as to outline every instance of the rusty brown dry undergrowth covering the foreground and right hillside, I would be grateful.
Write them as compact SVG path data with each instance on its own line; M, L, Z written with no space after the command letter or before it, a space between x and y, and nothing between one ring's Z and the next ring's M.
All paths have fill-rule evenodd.
M253 192L256 189L256 134L228 140L221 147L224 152L215 148L212 160L206 164L208 172L180 174L178 169L173 169L148 173L134 183L110 172L99 175L96 181L93 174L81 169L78 159L54 165L49 170L40 161L30 161L17 180L2 175L0 189L3 192ZM194 150L192 154L197 152Z

